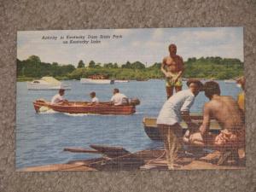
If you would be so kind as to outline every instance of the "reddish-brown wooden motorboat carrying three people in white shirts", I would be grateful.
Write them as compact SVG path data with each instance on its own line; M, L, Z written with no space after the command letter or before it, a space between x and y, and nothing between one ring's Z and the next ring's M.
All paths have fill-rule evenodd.
M96 105L91 105L89 102L51 104L44 100L36 100L33 105L37 113L40 113L42 108L52 109L61 113L132 114L136 112L135 105L114 106L108 102L100 102Z

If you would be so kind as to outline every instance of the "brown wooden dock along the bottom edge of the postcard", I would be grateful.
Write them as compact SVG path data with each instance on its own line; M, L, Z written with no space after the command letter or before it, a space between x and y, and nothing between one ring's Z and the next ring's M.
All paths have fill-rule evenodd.
M108 147L91 145L90 148L64 148L72 153L102 154L101 158L90 160L73 160L66 164L53 164L47 166L32 166L18 170L18 172L52 172L52 171L118 171L118 170L168 170L164 149L142 150L131 153L122 147ZM244 169L244 151L239 152L239 162L226 162L218 166L216 162L220 153L212 154L183 154L175 161L175 170L204 170L204 169Z

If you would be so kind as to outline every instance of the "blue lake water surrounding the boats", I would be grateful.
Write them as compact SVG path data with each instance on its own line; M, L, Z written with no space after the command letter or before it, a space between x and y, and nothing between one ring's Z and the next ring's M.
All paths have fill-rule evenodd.
M90 144L122 146L131 152L156 148L160 142L151 141L143 131L143 117L155 117L166 101L163 80L131 81L123 84L80 84L66 81L72 90L65 97L72 101L89 101L90 91L96 91L100 101L108 101L113 88L129 97L138 97L141 105L133 115L86 115L66 113L35 113L32 102L38 98L50 100L55 90L27 90L26 83L17 83L16 167L65 163L68 160L90 159L97 154L73 154L63 148L88 148ZM222 95L236 98L241 90L236 84L221 86ZM183 89L187 89L183 85ZM196 96L192 112L201 112L207 98Z

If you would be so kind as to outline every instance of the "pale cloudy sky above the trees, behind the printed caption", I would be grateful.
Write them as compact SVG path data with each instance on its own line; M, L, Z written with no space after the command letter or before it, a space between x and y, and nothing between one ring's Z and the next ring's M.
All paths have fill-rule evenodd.
M108 35L110 38L99 38ZM113 38L113 35L122 38ZM63 36L64 39L60 39ZM67 36L97 36L100 44L63 44ZM43 37L57 37L42 39ZM73 39L83 40L83 39ZM95 38L94 38L95 40ZM141 61L148 66L161 62L169 55L169 44L177 45L177 55L187 61L189 57L220 56L244 61L243 27L190 27L20 31L17 33L17 58L26 60L38 55L41 61L78 65L126 61Z

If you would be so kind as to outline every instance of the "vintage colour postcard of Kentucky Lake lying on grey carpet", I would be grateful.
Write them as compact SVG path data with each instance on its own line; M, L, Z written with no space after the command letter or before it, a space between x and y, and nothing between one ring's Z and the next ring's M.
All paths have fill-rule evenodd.
M16 170L245 168L242 27L17 32Z

